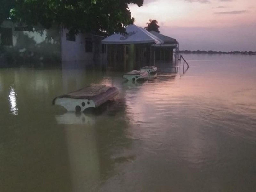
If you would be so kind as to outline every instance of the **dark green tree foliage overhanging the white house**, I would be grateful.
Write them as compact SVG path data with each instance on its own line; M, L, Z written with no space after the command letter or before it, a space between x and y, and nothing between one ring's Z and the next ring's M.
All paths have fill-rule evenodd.
M3 0L0 23L7 18L29 26L68 28L71 33L124 32L134 22L128 4L143 0ZM40 28L36 29L40 31Z

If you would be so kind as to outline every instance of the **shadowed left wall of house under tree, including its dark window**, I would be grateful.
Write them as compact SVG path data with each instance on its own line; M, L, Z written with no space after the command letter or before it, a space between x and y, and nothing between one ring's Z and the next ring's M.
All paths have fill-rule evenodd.
M61 61L58 29L31 32L26 26L17 26L11 21L4 21L0 26L0 57L4 58L5 62Z

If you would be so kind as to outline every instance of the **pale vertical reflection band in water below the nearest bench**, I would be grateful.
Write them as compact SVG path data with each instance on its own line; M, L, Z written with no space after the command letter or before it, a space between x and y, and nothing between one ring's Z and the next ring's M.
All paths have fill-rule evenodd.
M100 181L100 159L94 126L65 125L72 191L90 191Z

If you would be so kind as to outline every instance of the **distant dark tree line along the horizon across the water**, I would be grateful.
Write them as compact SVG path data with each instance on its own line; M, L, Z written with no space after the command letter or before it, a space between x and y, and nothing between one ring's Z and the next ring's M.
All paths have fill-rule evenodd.
M180 50L180 53L187 53L187 54L232 54L232 55L256 55L256 51L190 51L190 50Z

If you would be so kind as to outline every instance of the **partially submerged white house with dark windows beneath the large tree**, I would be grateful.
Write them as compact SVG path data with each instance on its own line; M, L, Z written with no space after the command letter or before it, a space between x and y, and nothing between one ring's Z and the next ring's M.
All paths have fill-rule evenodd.
M33 32L32 28L7 20L0 25L0 61L100 63L102 39L92 34L70 34L64 28Z

